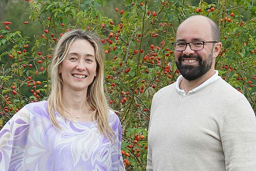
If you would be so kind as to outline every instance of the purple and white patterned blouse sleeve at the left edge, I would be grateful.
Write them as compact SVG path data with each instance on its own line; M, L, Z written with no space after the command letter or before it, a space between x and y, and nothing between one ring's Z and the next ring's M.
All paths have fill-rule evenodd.
M29 112L26 108L18 111L0 131L0 170L15 170L15 160L24 158L29 133ZM12 160L10 165L10 161Z

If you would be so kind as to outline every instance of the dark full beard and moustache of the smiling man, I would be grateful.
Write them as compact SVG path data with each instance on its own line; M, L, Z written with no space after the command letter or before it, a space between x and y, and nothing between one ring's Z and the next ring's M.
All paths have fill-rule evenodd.
M183 58L194 58L198 60L199 65L198 66L192 66L192 65L182 65L182 59ZM181 75L189 80L196 80L203 76L205 73L207 73L212 65L212 52L209 54L208 59L202 60L201 57L199 57L197 54L191 54L191 55L185 55L182 54L178 61L175 60L176 66L179 69Z

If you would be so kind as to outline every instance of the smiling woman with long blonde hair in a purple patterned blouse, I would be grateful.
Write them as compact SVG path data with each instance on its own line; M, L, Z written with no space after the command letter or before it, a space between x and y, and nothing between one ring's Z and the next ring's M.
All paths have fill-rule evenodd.
M0 170L124 170L99 42L79 29L59 39L48 101L27 104L0 132Z

